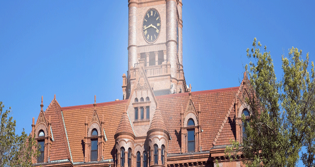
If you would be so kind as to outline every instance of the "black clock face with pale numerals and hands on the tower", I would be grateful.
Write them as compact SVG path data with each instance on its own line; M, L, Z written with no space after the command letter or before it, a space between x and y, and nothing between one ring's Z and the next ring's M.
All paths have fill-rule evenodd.
M153 43L158 39L161 30L161 18L156 9L149 9L143 18L142 33L144 39Z

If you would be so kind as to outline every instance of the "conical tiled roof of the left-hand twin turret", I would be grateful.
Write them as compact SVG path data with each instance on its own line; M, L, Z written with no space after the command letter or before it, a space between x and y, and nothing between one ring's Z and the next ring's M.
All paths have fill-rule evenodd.
M117 127L117 131L116 131L116 134L115 134L115 139L117 138L118 135L126 134L126 133L130 134L130 135L132 135L134 137L134 133L133 133L133 130L132 130L132 127L131 127L131 124L130 124L130 121L129 121L129 117L128 117L128 114L127 114L127 111L126 111L126 106L125 106L122 118L120 119L119 125Z

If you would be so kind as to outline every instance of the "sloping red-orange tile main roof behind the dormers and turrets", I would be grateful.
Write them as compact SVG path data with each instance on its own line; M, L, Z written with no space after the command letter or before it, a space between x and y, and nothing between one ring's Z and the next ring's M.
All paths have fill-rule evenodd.
M239 87L230 87L224 89L205 90L191 92L191 100L194 105L200 104L201 120L200 125L202 150L210 150L213 147L213 141L217 139L216 145L229 144L228 139L235 139L235 111L231 104L238 92ZM186 106L189 101L189 93L169 94L156 97L160 109L161 118L171 136L169 141L168 153L180 153L181 143L181 106ZM123 111L128 100L98 103L96 110L99 115L104 115L104 129L107 141L104 145L104 159L113 159L114 157L114 135L121 122ZM69 158L68 145L61 115L63 112L64 124L67 131L70 150L73 162L84 161L84 137L85 137L85 119L91 120L94 106L93 104L63 107L60 108L57 101L49 105L45 111L52 117L52 129L54 143L52 145L51 161ZM229 112L228 116L227 112ZM223 120L227 118L224 124ZM126 122L126 116L124 121ZM160 120L160 118L158 119ZM154 121L152 121L154 122ZM218 133L220 128L221 133ZM164 127L162 127L164 128ZM54 152L54 153L53 153Z

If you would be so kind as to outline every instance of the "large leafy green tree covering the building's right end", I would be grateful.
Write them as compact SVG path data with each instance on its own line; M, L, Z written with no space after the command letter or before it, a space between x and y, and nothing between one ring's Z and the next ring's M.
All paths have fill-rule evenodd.
M314 62L309 67L309 54L302 59L302 51L289 49L282 56L283 78L277 81L273 60L266 46L254 38L252 49L247 49L250 62L245 69L251 86L246 89L243 103L249 106L250 121L245 123L246 138L242 143L232 141L226 155L239 151L249 167L293 167L299 160L302 146L307 152L301 160L305 166L315 165L315 72ZM311 75L308 72L311 68ZM235 156L234 156L235 157Z

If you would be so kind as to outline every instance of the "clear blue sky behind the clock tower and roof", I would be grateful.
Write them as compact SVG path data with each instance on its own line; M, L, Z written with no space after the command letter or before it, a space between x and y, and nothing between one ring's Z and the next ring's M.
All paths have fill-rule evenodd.
M192 91L239 86L256 37L274 59L294 46L315 60L315 1L183 0L183 65ZM54 94L62 107L122 99L127 0L0 1L0 101L16 131ZM263 48L262 48L263 49Z

